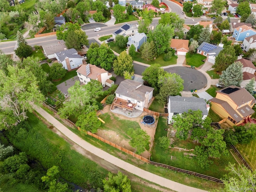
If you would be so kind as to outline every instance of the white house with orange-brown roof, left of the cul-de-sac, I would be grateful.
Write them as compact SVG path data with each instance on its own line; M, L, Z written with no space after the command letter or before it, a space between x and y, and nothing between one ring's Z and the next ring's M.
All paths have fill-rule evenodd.
M97 67L96 65L82 65L78 70L76 70L76 73L79 77L80 82L82 82L83 84L87 84L91 80L98 80L103 86L110 85L111 87L112 85L114 85L114 81L109 81L109 78L112 77L112 74L102 68Z

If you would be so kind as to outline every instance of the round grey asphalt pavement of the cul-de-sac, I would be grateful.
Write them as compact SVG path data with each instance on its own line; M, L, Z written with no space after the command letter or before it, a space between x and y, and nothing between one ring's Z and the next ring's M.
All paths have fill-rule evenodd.
M170 67L164 69L169 73L179 74L184 80L183 91L200 90L207 85L207 78L200 71L188 67Z

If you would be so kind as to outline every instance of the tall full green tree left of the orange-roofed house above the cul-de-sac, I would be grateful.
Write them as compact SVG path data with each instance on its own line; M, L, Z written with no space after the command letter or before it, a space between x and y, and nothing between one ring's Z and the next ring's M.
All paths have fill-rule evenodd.
M150 31L148 36L149 42L153 41L156 46L156 54L159 56L170 47L170 40L174 34L171 26L159 24L154 32Z

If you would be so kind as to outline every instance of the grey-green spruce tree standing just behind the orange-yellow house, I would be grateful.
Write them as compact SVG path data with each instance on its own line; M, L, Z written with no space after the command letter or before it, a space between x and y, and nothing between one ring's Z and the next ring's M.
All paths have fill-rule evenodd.
M242 71L242 63L234 62L220 75L219 82L223 84L225 87L230 85L240 87L241 82L243 81L243 71Z

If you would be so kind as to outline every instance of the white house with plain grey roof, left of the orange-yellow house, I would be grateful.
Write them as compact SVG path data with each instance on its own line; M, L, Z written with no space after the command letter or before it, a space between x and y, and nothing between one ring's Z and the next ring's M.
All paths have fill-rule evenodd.
M168 103L168 124L172 124L172 117L174 115L183 114L188 112L189 109L192 111L200 110L202 111L202 119L208 116L210 110L210 105L206 103L203 98L192 97L182 97L182 96L169 96Z

